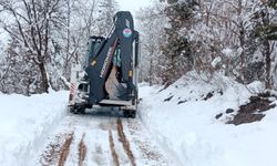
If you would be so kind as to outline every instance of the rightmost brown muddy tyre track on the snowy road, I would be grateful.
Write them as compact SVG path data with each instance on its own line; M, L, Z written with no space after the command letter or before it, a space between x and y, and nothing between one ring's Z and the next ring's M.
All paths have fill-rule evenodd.
M136 165L135 157L131 151L130 143L126 139L126 136L124 135L122 122L120 118L117 118L117 133L119 133L120 142L122 143L123 148L125 153L127 154L127 157L130 158L132 166L135 166Z

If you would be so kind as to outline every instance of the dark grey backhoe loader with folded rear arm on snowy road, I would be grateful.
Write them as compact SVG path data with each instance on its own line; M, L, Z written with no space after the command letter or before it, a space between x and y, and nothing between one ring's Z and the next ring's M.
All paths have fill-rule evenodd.
M84 64L73 64L69 108L119 107L124 117L137 110L138 32L131 12L119 11L106 38L91 37Z

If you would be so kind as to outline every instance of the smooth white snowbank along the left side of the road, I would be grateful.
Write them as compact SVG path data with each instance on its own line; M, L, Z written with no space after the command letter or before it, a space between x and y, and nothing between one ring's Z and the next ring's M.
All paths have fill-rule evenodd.
M0 163L31 165L51 127L65 113L68 92L30 97L0 94Z

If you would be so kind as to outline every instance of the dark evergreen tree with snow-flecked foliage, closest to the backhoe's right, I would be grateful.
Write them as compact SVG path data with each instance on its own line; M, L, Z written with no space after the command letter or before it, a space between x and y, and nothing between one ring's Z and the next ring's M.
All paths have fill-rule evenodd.
M164 82L171 84L193 68L188 33L194 25L197 3L195 1L168 1L168 3L165 14L170 27L165 28L166 41L162 46L162 52L168 61Z

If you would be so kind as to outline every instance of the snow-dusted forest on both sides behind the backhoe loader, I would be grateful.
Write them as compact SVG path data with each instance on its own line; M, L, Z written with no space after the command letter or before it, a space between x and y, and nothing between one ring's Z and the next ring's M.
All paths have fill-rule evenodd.
M32 95L68 89L90 35L105 37L115 0L1 0L0 91ZM275 0L153 0L135 13L140 81L171 85L196 72L277 89Z

